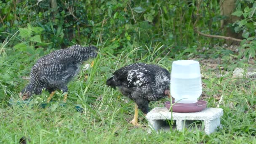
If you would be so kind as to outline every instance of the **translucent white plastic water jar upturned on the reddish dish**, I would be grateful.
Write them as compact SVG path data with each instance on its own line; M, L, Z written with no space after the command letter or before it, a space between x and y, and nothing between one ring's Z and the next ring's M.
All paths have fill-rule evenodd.
M178 103L196 103L202 94L202 80L198 61L173 61L171 69L171 96Z

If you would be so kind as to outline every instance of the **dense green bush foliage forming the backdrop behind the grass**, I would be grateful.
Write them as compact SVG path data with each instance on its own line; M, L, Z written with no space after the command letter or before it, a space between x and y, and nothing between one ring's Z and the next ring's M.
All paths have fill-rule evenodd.
M202 37L194 32L196 0L56 2L56 7L52 8L48 0L0 1L0 40L3 42L0 54L8 53L9 49L4 49L8 47L10 53L31 62L54 49L75 43L97 45L110 55L130 53L131 59L137 55L146 59L145 56L153 55L160 48L162 50L155 59L167 54L169 58L181 59L184 54L191 56L203 47L211 48L203 52L204 58L234 55L216 47L224 40ZM223 35L220 21L226 18L220 15L219 9L218 0L202 1L197 21L201 32ZM243 32L244 40L237 59L255 57L256 2L237 0L232 15L242 18L226 26L233 27L237 33ZM132 53L135 48L139 51ZM152 60L153 56L147 58Z

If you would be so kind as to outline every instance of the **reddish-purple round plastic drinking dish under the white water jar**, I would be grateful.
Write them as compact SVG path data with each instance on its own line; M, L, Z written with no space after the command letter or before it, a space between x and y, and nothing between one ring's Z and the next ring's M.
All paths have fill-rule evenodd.
M172 103L173 112L200 112L207 106L207 102L203 100L198 100L196 103L193 104L175 103L174 101L172 101ZM165 101L165 107L167 109L170 109L170 101Z

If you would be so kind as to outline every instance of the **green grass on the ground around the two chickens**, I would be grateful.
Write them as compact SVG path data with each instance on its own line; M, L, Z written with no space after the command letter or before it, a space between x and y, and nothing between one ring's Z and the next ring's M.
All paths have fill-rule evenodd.
M232 70L235 67L246 67L248 64L235 64L232 59L224 61L222 66L228 74L216 77L220 71L209 69L202 65L205 76L201 99L208 101L208 107L220 107L224 110L221 117L222 129L211 135L202 131L176 131L148 133L149 127L143 114L139 113L142 128L135 128L129 122L133 118L134 103L121 95L117 90L105 85L108 77L115 69L135 61L159 64L171 71L171 63L177 59L189 57L179 54L171 59L162 48L148 46L148 51L139 54L141 48L129 50L121 56L113 56L101 48L99 56L94 60L94 67L81 72L75 80L69 83L69 96L66 107L60 107L63 97L57 93L51 107L40 108L49 93L34 96L34 105L8 105L10 96L18 96L28 80L30 69L38 57L47 52L37 49L28 55L8 48L0 47L0 143L18 143L26 136L31 143L253 143L256 144L256 82L235 85L232 80ZM165 56L167 55L167 56ZM165 56L165 57L164 57ZM191 56L191 55L190 55ZM194 53L198 59L199 53ZM86 61L85 63L90 63ZM224 72L224 70L221 70ZM85 75L88 74L88 79ZM150 108L163 107L161 101L151 102ZM74 104L82 104L84 113L77 112Z

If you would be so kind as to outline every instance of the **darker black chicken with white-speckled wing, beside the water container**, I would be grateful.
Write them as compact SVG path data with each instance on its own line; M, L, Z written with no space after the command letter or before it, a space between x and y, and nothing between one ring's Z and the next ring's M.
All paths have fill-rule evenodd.
M133 125L138 124L138 108L146 115L150 101L157 101L170 95L170 73L167 69L153 64L136 63L115 71L107 85L118 88L135 104Z

